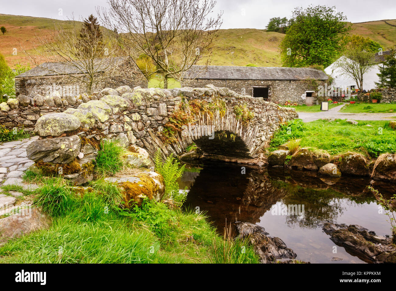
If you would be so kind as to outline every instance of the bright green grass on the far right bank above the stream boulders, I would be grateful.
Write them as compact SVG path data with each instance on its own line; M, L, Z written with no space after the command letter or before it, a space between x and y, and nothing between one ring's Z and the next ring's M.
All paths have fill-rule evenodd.
M307 123L293 120L274 134L269 150L275 150L289 140L301 139L300 147L326 150L329 154L354 151L367 157L377 157L385 152L396 153L396 131L388 126L388 121L358 122L353 126L345 120Z

